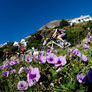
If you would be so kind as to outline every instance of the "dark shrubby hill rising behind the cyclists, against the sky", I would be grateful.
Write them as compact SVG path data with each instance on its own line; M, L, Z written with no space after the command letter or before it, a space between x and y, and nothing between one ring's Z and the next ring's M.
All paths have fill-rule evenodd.
M16 52L17 49L14 49L18 44L25 44L27 49L31 49L32 47L37 48L38 50L42 49L43 44L43 36L46 38L52 38L54 33L53 28L62 28L66 30L66 35L63 39L67 40L71 43L71 46L81 43L81 41L85 38L89 30L88 27L91 28L92 22L89 22L88 19L85 21L77 22L78 19L85 20L85 18L90 18L90 16L75 18L75 19L66 19L66 20L53 20L46 25L42 26L37 32L31 34L30 36L22 39L20 42L6 42L2 44L0 47L1 51L5 51L6 49L10 54ZM91 19L91 18L90 18ZM72 25L69 23L73 22ZM55 38L57 39L57 38ZM15 43L15 45L14 45ZM27 44L27 45L26 45Z

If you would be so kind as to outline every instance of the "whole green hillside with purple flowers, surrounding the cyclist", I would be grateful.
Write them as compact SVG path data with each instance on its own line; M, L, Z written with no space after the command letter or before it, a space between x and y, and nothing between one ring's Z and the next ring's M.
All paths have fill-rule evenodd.
M25 38L25 48L0 48L0 92L89 92L92 90L92 21L69 25L55 20ZM53 29L63 29L71 43L65 49L45 49L43 36L52 38ZM55 38L57 40L57 38ZM19 45L23 45L19 42ZM24 45L23 45L24 46ZM32 47L36 50L33 52ZM25 50L24 50L25 49ZM24 50L24 51L23 51ZM9 57L5 54L8 52Z

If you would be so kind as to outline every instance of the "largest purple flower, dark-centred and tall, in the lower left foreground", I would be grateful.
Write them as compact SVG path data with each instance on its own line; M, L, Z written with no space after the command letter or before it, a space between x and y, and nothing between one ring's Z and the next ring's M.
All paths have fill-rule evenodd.
M27 74L27 81L29 86L33 86L36 82L39 81L40 74L38 68L32 68L32 70Z

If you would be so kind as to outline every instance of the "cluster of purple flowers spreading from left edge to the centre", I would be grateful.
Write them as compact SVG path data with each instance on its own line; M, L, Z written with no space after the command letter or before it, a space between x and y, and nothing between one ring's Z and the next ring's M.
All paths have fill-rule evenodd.
M56 67L59 67L56 72L62 69L62 66L64 66L67 61L65 56L57 56L54 53L51 52L51 50L47 50L47 53L41 51L39 52L39 55L32 56L32 55L26 55L25 56L25 61L29 65L35 60L36 63L41 64L41 63L48 63L52 64ZM26 74L26 80L20 80L17 84L18 90L27 90L29 87L35 85L41 75L40 71L37 67L33 68L31 65L29 67L20 67L18 70L14 69L15 65L19 65L21 62L18 59L15 60L8 60L3 63L2 66L0 66L0 69L2 70L2 75L7 78L9 77L10 74L16 73L18 75Z

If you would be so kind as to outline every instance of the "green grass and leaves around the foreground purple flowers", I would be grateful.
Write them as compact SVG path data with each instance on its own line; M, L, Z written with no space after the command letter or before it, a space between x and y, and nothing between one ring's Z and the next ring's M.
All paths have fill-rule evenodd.
M74 28L76 30L80 30L81 26L76 25L76 27L72 27L71 29L74 30ZM68 30L69 28L66 27L65 29ZM51 30L47 29L47 31L45 32L49 33L51 32ZM51 34L49 33L47 36L50 37L50 35ZM71 48L76 48L76 47L73 46ZM57 67L47 63L38 64L38 63L35 63L34 60L29 64L23 61L20 64L13 66L12 68L16 69L17 72L20 69L20 67L22 66L28 67L30 64L33 67L38 67L40 70L40 74L42 76L40 81L36 85L30 87L25 92L30 92L30 91L35 92L37 90L39 90L38 92L42 92L46 90L49 90L52 92L60 92L60 91L61 92L84 92L85 90L88 90L86 86L83 86L77 82L76 75L80 73L86 75L89 70L89 67L92 65L92 58L91 58L92 41L90 43L89 50L84 50L83 46L81 45L80 45L80 48L78 48L82 54L85 54L87 56L88 64L82 62L81 59L70 57L69 53L67 52L68 49L69 48L63 50L59 48L58 52L57 53L55 52L57 56L67 55L67 62L68 62L58 73L56 73ZM2 65L2 63L0 63L0 65ZM4 78L2 76L2 71L0 70L0 91L14 92L15 90L15 92L17 92L18 90L16 85L20 80L26 81L26 74L24 72L21 75L15 73L15 74L9 75L8 78ZM39 84L40 82L43 82L44 86L40 85ZM50 83L55 83L55 86L54 87L50 86ZM21 92L24 92L24 91L21 91Z

